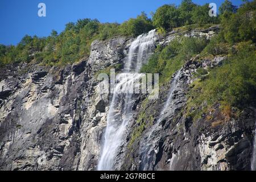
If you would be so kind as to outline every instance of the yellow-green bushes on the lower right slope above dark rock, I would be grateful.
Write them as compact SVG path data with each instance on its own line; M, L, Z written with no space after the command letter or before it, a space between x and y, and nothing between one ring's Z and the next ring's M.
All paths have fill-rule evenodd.
M187 111L194 117L209 109L216 102L223 107L243 107L256 102L255 45L241 42L237 52L222 67L209 71L206 79L199 79L190 92ZM192 108L195 110L192 111Z

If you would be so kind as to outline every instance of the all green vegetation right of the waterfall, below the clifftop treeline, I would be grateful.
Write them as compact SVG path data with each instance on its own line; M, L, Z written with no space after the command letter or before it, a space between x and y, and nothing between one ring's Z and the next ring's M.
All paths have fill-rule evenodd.
M170 80L185 61L200 53L200 59L226 55L221 67L197 70L188 97L187 114L199 118L219 103L226 113L232 106L256 103L256 1L246 2L236 9L229 1L220 7L220 34L210 41L198 38L174 40L163 49L156 49L141 71L160 73L160 82Z

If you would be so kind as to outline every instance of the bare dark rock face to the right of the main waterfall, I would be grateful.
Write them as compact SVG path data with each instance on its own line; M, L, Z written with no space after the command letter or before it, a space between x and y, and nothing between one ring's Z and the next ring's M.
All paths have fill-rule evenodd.
M218 66L224 59L225 56L203 61L192 59L181 68L170 105L160 123L154 117L154 124L147 125L146 119L146 129L135 139L132 147L126 150L128 157L126 163L123 163L123 169L250 170L255 108L246 108L240 117L228 120L218 105L196 122L184 114L193 73L197 68ZM168 96L168 89L160 90L159 100L139 106L138 113L159 115L159 108L163 107ZM206 117L207 114L211 117ZM138 117L136 115L134 121ZM129 136L138 127L136 125L133 122L129 127Z

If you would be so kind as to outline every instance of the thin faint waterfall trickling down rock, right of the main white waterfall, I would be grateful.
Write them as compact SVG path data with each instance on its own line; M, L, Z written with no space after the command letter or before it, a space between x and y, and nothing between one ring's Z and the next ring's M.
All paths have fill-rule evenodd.
M175 74L174 78L171 80L170 90L168 92L168 97L162 110L160 111L158 120L156 121L155 125L151 127L150 131L148 131L147 137L143 139L140 146L140 154L142 156L141 163L139 165L139 170L147 170L150 167L150 161L148 161L147 156L149 155L150 151L152 151L152 143L154 140L159 140L159 136L156 135L156 138L152 137L153 133L158 132L161 129L160 122L163 121L166 117L171 117L171 113L174 113L175 106L171 105L172 98L174 96L174 92L179 86L179 79L180 79L181 69ZM168 115L166 115L167 111L169 111ZM170 113L171 112L171 113ZM151 150L150 150L151 149ZM152 168L152 166L150 167Z

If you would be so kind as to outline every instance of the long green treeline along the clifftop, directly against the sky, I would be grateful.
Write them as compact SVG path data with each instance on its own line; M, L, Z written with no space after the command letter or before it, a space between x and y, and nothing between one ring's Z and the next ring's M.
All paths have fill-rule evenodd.
M17 46L0 45L0 66L9 63L30 62L46 65L73 63L89 56L93 40L106 40L117 35L138 36L154 28L170 31L174 27L189 24L218 23L218 18L208 15L208 4L198 6L184 0L179 7L164 5L156 10L152 19L145 13L122 24L100 23L97 19L79 19L68 23L65 30L55 30L46 38L24 36Z

